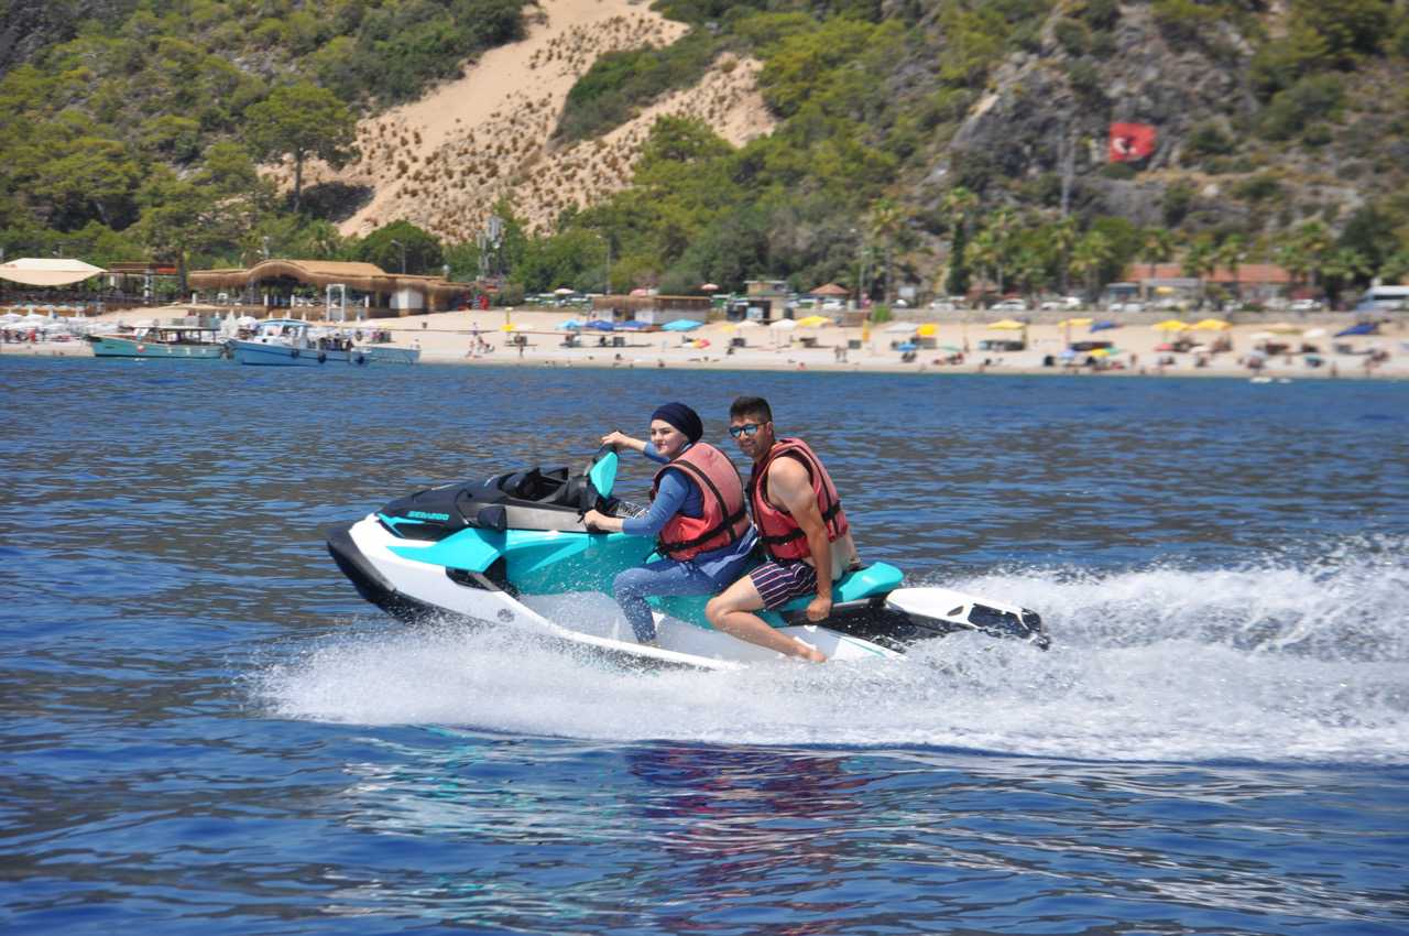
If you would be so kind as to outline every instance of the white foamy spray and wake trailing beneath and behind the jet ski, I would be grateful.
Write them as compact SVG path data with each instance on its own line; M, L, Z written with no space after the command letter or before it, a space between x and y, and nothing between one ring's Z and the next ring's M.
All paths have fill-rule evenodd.
M330 637L263 670L258 692L290 718L613 741L1409 763L1409 571L1385 555L1337 558L954 584L1040 609L1045 654L958 634L893 664L637 675L513 632L379 623L378 636Z

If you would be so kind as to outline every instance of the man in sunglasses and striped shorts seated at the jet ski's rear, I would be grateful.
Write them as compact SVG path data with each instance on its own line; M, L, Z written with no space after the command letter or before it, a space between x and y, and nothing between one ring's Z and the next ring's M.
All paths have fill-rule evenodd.
M859 565L841 498L807 443L775 436L774 413L762 398L734 400L728 434L754 462L748 502L768 561L712 598L704 613L710 624L740 640L823 663L820 650L781 634L754 612L813 595L807 620L831 613L833 581Z

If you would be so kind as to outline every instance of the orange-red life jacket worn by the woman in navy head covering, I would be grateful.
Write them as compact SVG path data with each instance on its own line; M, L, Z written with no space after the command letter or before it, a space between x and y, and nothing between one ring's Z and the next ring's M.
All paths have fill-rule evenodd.
M748 510L744 506L744 482L728 455L709 443L695 443L675 461L655 472L651 500L661 488L661 475L678 468L699 485L702 510L697 517L676 513L661 527L657 548L661 555L685 561L700 553L737 543L748 533Z

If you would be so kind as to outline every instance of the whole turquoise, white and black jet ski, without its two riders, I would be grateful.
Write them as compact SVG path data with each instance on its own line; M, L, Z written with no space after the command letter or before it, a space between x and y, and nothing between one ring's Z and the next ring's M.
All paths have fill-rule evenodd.
M635 643L612 579L650 558L641 537L588 530L596 509L616 516L617 455L603 448L581 471L511 471L417 491L328 531L327 547L366 601L402 620L462 617L521 627L534 640L630 667L728 670L781 654L714 630L707 596L652 598L658 644ZM828 660L895 658L955 632L1045 650L1041 617L1026 608L947 588L905 588L900 569L874 562L833 585L831 615L807 620L799 598L761 616Z

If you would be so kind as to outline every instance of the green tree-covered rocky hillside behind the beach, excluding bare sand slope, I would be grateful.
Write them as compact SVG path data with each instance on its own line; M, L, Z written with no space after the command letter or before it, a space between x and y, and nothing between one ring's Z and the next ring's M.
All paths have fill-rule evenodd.
M513 0L72 6L101 18L76 17L0 79L8 255L225 264L268 242L385 262L387 238L337 235L338 193L275 197L254 161L345 158L356 114L521 28ZM690 32L603 58L555 137L606 133L726 51L764 62L778 130L735 149L661 121L631 189L542 237L500 206L516 288L599 289L609 245L613 286L671 292L764 275L878 299L978 276L1093 290L1130 261L1175 258L1191 273L1281 262L1332 293L1409 273L1403 0L661 8ZM1112 121L1155 127L1154 151L1110 162ZM473 245L418 255L478 268Z

